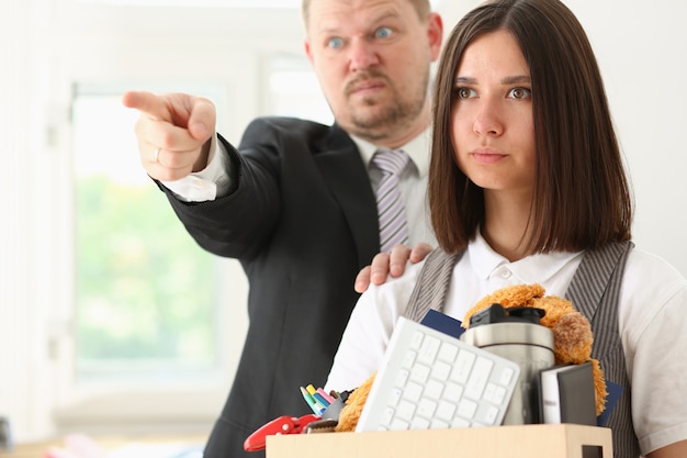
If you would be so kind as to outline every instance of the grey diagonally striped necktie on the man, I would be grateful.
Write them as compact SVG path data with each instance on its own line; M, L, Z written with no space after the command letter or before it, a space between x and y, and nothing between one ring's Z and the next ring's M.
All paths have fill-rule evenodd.
M408 155L401 149L378 149L372 156L372 164L382 171L382 180L376 190L382 253L390 252L394 245L408 243L408 227L398 180L408 160Z

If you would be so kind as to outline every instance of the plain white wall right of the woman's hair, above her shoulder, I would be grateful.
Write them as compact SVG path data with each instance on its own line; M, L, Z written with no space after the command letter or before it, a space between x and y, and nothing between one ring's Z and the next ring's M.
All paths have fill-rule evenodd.
M632 178L638 247L687 275L687 3L577 0Z

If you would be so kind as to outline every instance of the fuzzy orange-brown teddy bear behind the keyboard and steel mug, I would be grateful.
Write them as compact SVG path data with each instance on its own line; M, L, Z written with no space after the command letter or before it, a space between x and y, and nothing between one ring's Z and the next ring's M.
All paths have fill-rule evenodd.
M598 415L604 412L608 392L599 361L592 358L592 343L594 342L592 326L587 319L575 310L572 302L556 295L544 295L544 288L540 284L516 284L497 290L483 298L468 311L463 326L468 327L472 315L493 303L502 304L504 308L532 306L543 309L545 314L541 319L541 324L549 327L553 333L555 364L578 365L592 361L596 391L596 413ZM374 375L350 394L346 407L339 415L336 432L356 431L358 418L360 418L373 381Z

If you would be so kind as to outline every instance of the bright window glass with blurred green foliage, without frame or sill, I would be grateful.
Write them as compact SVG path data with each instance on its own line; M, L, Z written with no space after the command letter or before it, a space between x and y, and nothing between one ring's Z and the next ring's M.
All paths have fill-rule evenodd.
M225 359L223 265L199 248L145 174L136 116L121 91L76 87L77 383L202 379Z

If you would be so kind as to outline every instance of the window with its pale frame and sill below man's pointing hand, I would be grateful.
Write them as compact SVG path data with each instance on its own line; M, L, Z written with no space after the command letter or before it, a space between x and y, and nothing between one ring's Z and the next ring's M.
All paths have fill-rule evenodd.
M128 87L72 91L74 319L54 418L59 431L206 433L238 364L246 279L195 244L140 166ZM223 122L224 86L173 88L211 98Z

